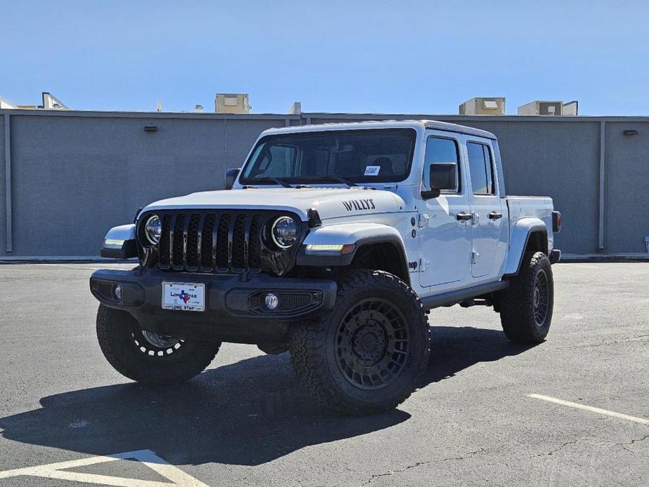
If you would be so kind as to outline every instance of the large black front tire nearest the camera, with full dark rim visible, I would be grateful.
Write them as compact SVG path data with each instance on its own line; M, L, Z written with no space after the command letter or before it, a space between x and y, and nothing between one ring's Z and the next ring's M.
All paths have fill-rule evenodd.
M374 314L372 303L376 303ZM386 312L390 307L393 311ZM381 314L383 312L386 314ZM296 375L317 401L340 413L367 415L391 410L412 394L426 369L430 354L426 314L417 294L397 276L366 269L346 272L338 279L336 304L332 311L318 320L291 328L289 345ZM357 323L351 325L350 316ZM384 319L384 324L377 321L380 319ZM365 324L359 325L358 322ZM353 334L352 329L355 329ZM352 335L355 338L345 338ZM395 340L395 336L402 340L396 342L396 345L394 341L390 341ZM407 345L402 343L404 337L408 340ZM349 367L343 371L339 358L339 354L343 353L343 345L339 340L348 340L345 343L351 348L366 347L363 350L367 354L363 355L364 362L360 367L365 367L371 361L389 361L388 368L397 368L398 365L392 362L395 357L401 359L401 355L404 355L405 359L392 378L389 378L388 371L384 372L384 385L380 384L379 373L374 378L368 373L362 378L372 381L372 385L367 382L359 386L350 379ZM362 344L359 345L360 342ZM391 353L397 348L404 349L405 352ZM384 351L382 359L381 350ZM350 363L355 360L352 352L348 352L346 356ZM354 366L358 364L354 363ZM376 369L379 367L380 365L376 366ZM374 366L366 370L374 370ZM353 373L351 375L354 376ZM359 375L359 380L360 378ZM379 388L371 389L372 387Z

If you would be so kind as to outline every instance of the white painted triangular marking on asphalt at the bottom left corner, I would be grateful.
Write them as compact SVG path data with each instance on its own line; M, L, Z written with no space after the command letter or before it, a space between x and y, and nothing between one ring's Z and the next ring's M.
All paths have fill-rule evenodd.
M87 465L96 465L105 462L114 462L117 460L137 460L164 476L169 482L158 482L151 480L129 479L126 477L114 477L110 475L81 474L78 472L65 472L63 469L86 467ZM68 462L50 463L38 467L26 467L14 470L5 470L0 472L0 479L8 479L17 476L34 476L44 479L69 480L74 482L95 483L102 486L118 487L209 487L206 483L195 479L186 474L178 467L174 467L165 462L150 450L128 451L126 453L117 453L115 455L105 455L91 458L81 458L81 460L70 460Z

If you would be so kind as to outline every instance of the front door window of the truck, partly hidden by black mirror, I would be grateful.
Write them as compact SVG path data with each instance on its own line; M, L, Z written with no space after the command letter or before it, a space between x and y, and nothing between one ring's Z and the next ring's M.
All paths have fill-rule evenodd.
M455 140L439 137L429 137L426 140L426 155L424 156L424 187L426 189L432 189L431 166L433 165L440 169L433 173L437 173L443 181L440 179L440 184L435 185L433 180L432 186L446 188L442 190L444 193L459 193L459 152Z

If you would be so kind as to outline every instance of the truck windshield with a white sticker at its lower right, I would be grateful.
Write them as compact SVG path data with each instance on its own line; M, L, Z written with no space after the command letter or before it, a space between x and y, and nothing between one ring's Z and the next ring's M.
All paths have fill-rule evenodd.
M412 128L268 135L255 147L240 182L402 181L410 171L416 135Z

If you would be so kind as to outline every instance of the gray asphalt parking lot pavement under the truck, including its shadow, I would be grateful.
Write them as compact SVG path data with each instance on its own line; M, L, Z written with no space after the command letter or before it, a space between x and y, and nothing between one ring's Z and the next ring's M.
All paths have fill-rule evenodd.
M0 265L0 487L649 483L649 263L553 266L534 347L492 309L434 310L421 389L369 418L320 408L288 354L251 345L186 385L123 378L96 342L94 267Z

